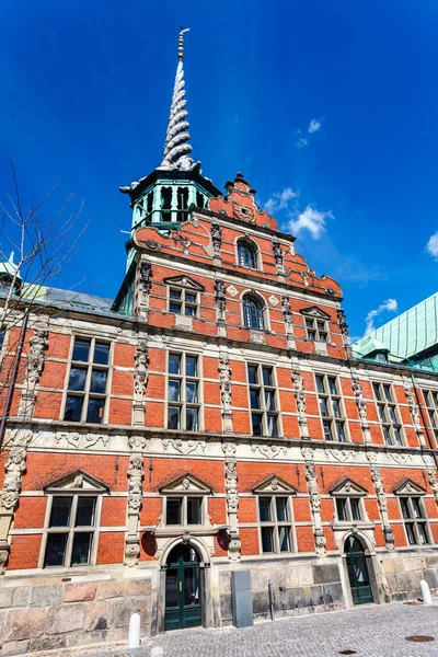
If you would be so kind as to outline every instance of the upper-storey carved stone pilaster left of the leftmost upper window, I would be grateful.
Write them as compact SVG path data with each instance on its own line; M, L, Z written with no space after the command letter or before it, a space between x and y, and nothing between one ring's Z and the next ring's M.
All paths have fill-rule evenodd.
M26 377L22 392L19 417L28 418L34 414L36 402L36 387L44 369L45 351L48 348L48 315L41 315L34 325L34 334L30 339L30 353L27 355Z

